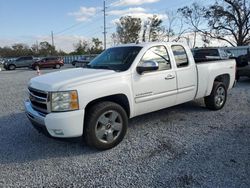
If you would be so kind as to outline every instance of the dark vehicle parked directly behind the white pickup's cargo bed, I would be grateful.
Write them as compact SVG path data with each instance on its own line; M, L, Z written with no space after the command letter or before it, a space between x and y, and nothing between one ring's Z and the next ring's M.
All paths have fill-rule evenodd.
M193 50L193 54L196 62L222 60L233 57L232 53L220 48L197 48Z

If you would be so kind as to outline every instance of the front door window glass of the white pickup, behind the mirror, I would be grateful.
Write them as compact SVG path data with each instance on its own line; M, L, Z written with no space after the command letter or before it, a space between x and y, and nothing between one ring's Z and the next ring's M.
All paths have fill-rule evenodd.
M150 48L142 57L141 63L155 61L159 64L158 71L171 69L171 64L167 49L164 46Z

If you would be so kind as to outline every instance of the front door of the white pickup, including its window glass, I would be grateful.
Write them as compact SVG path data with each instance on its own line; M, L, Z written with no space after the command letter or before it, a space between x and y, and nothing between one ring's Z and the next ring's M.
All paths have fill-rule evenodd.
M173 106L176 102L176 74L167 48L163 45L149 48L138 65L146 61L157 62L159 69L142 74L137 71L133 73L135 115Z

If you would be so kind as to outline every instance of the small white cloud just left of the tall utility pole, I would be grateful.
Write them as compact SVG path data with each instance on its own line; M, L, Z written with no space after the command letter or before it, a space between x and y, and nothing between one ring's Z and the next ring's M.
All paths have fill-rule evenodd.
M96 15L96 7L80 7L80 10L77 12L68 13L69 16L74 16L77 21L84 22L89 20L91 17Z

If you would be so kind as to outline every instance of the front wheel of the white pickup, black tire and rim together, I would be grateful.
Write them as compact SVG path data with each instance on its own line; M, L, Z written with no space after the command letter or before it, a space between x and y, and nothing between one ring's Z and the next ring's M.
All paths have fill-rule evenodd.
M112 113L118 115L114 120L111 120ZM107 123L102 123L103 117ZM118 131L115 126L119 127L120 130ZM127 126L128 116L120 105L109 101L99 102L86 112L83 132L84 140L87 145L96 149L110 149L123 140L127 132ZM109 141L109 138L114 140Z

